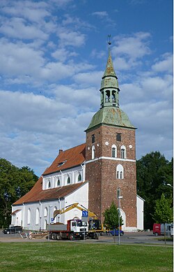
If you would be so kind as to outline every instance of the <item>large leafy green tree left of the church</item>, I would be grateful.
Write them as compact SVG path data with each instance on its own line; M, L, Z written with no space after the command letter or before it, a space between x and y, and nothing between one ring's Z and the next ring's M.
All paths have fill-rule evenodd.
M0 226L10 224L11 205L29 192L37 180L28 166L19 169L0 158Z

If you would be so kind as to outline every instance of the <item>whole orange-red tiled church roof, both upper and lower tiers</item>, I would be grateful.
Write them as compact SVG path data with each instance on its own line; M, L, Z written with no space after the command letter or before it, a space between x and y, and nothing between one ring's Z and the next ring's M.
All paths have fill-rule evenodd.
M50 173L55 173L58 171L63 171L64 169L69 169L74 166L78 166L85 161L85 148L86 144L75 146L65 151L61 151L59 155L54 159L54 162L49 166L42 176L46 176ZM20 205L22 203L28 203L33 201L43 201L49 199L58 199L68 194L74 192L78 189L84 182L67 185L63 187L56 187L53 189L42 189L42 176L35 183L33 188L20 199L18 199L13 205Z

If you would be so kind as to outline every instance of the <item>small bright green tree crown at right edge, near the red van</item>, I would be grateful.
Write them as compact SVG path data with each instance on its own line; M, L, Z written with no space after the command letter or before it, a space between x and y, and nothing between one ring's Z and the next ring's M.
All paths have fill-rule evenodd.
M173 222L172 198L166 199L165 195L161 194L161 199L157 199L155 204L153 219L157 223Z

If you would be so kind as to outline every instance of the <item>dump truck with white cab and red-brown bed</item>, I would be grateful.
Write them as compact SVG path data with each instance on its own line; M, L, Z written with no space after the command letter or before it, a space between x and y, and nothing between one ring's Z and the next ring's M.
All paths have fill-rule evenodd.
M84 239L88 236L88 224L81 220L68 220L67 224L55 223L48 225L48 235L52 240L75 238Z

